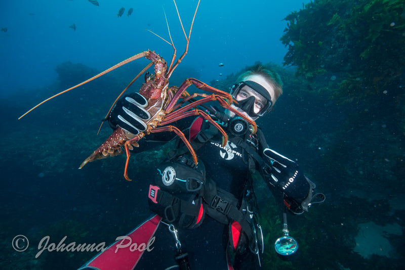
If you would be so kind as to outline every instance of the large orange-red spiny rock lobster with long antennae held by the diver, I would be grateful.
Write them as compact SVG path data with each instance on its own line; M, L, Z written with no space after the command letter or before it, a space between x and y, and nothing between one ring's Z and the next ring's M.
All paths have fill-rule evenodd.
M143 74L148 68L150 68L152 65L154 65L154 74L153 75L148 75L148 73L145 74L145 83L142 84L142 86L138 92L140 95L142 95L148 101L147 106L144 108L150 114L150 118L148 120L144 121L147 126L146 130L135 135L135 134L132 134L132 133L126 131L125 129L117 127L114 130L114 132L108 137L108 139L79 166L79 169L82 168L83 166L85 166L88 162L91 162L91 161L94 161L97 159L101 159L101 158L106 158L108 156L115 156L115 155L122 154L122 153L124 153L124 151L122 149L124 147L125 153L127 155L127 160L126 160L125 170L124 170L124 177L128 181L131 181L131 179L128 177L128 163L129 163L129 158L130 158L130 150L133 149L133 146L138 147L139 145L137 142L139 140L141 140L143 137L147 136L148 134L155 133L155 132L163 132L163 131L175 132L180 137L180 139L184 142L184 144L187 146L188 150L190 151L190 153L193 157L194 162L197 163L197 156L196 156L193 148L191 147L190 143L185 138L183 132L181 132L181 130L178 129L177 127L175 127L173 125L168 125L168 124L170 124L174 121L177 121L181 118L187 117L187 116L199 115L218 128L218 130L223 135L223 146L225 146L225 144L227 142L226 132L207 113L205 113L204 111L201 111L197 108L197 106L199 106L203 103L209 102L209 101L218 101L222 107L224 107L224 108L234 112L236 115L246 119L253 126L253 132L255 132L256 131L255 122L252 121L251 119L247 118L246 116L244 116L237 110L230 107L232 102L236 102L236 101L232 100L232 97L229 93L226 93L219 89L211 87L211 86L207 85L206 83L201 82L194 78L186 79L179 87L176 87L176 86L169 87L170 76L172 75L173 71L176 69L176 67L180 64L182 59L187 54L188 44L189 44L190 35L191 35L191 29L192 29L192 26L194 23L195 15L197 13L199 1L198 1L197 7L194 12L194 16L193 16L193 19L191 22L188 37L184 31L184 27L181 22L180 14L178 12L175 1L174 1L174 4L176 6L180 24L181 24L183 33L184 33L184 35L186 37L186 41L187 41L186 49L185 49L184 53L179 57L179 59L176 62L175 62L176 48L174 46L172 38L170 37L170 39L172 41L171 43L164 39L166 42L170 43L174 49L174 54L173 54L172 61L171 61L169 67L167 66L167 62L162 57L160 57L158 54L156 54L154 51L150 51L150 50L144 51L142 53L134 55L134 56L114 65L113 67L95 75L94 77L92 77L84 82L81 82L75 86L72 86L63 92L56 94L51 98L46 99L45 101L39 103L38 105L36 105L35 107L33 107L32 109L27 111L25 114L20 116L18 119L21 119L23 116L25 116L27 113L29 113L36 107L42 105L43 103L47 102L48 100L53 99L56 96L59 96L63 93L70 91L71 89L74 89L91 80L94 80L131 61L134 61L141 57L145 57L146 59L150 60L151 63L149 63L130 82L130 84L124 89L124 91L115 100L115 102L111 106L111 109L113 108L116 101L120 98L120 96L123 95L124 92L128 89L128 87L141 74ZM169 36L170 36L170 31L169 31ZM188 95L188 93L186 92L186 88L189 87L191 84L194 84L199 89L211 92L212 94L208 95L208 94L203 94L203 93L196 93L193 95ZM199 99L195 100L195 98L197 98L197 97ZM184 105L186 102L190 102L190 103L187 105ZM111 111L111 109L110 109L110 111ZM107 116L108 116L108 114L107 114Z

